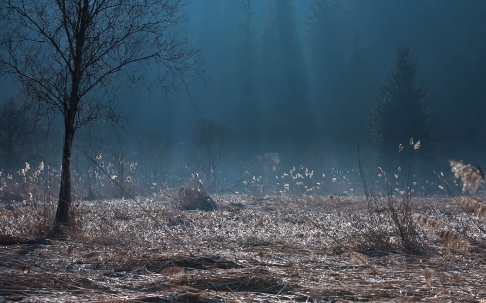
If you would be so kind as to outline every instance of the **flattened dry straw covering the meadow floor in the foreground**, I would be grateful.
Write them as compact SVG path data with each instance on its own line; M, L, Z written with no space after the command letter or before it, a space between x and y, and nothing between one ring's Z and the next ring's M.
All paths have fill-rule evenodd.
M363 198L222 196L213 211L161 199L82 202L84 227L69 239L16 234L28 205L4 208L0 300L30 302L480 302L484 247L412 256L346 252L360 236ZM448 200L422 199L451 228L477 235ZM448 208L451 207L451 208ZM442 211L446 209L447 211ZM451 213L449 213L451 211ZM19 215L23 213L24 216ZM8 224L8 225L5 225ZM433 235L431 235L433 237ZM480 236L478 236L480 237ZM484 239L483 239L484 243ZM9 244L9 245L6 245ZM476 246L475 246L476 245ZM424 271L433 272L426 281Z

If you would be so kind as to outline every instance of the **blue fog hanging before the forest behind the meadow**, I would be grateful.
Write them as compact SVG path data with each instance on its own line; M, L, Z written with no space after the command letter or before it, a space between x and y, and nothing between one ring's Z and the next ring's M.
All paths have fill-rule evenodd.
M73 161L80 174L90 167L82 150L93 157L123 151L139 171L156 171L144 177L148 185L174 175L180 184L192 182L195 172L204 178L194 155L202 148L194 139L201 121L215 123L217 133L223 129L218 188L231 187L244 171L258 177L265 170L275 179L300 165L313 170L316 182L322 173L352 175L358 149L371 172L378 166L395 171L413 158L417 178L449 170L448 159L485 163L484 0L192 0L185 14L207 79L191 83L189 95L119 90L117 104L127 119L115 126L99 121L77 133ZM409 98L415 93L380 94L404 49L417 63L411 89L421 88L418 103ZM0 91L6 102L19 87L2 80ZM401 103L382 110L389 95ZM3 158L0 167L43 157L60 163L56 121L36 126L51 142L47 152L9 163ZM420 140L420 148L409 146L410 138ZM351 178L359 183L357 175Z

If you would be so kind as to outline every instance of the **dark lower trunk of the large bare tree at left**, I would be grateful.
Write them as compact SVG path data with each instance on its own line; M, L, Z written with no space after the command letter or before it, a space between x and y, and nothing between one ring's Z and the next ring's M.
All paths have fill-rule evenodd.
M64 147L62 151L61 188L54 219L54 235L61 235L69 229L69 207L71 206L71 148L74 138L74 119L66 118Z

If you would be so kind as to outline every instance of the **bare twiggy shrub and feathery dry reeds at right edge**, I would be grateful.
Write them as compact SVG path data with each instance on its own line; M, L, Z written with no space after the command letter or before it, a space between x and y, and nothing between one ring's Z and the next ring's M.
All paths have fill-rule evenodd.
M366 253L442 254L446 260L453 260L453 253L468 253L471 249L486 247L486 203L474 196L485 179L479 167L450 161L454 178L462 184L462 195L458 197L454 196L450 186L459 183L446 181L443 173L439 175L442 185L438 188L449 193L445 200L455 204L458 210L453 213L434 210L430 205L427 211L423 200L414 195L417 185L414 180L407 179L401 184L397 181L398 187L394 189L390 179L399 179L399 172L390 176L379 167L378 176L384 181L384 187L380 189L373 183L370 186L359 157L358 161L365 205L362 220L354 224L359 231L357 239L353 239L355 249ZM449 204L446 206L450 207ZM441 239L445 250L441 250L437 239Z

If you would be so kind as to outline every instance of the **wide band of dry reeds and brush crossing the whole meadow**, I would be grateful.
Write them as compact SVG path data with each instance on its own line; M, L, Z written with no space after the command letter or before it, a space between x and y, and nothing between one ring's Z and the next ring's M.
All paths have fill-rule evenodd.
M411 145L411 150L414 151L414 145ZM96 160L97 165L103 167L101 155ZM242 179L244 182L241 182L241 186L251 187L253 191L257 191L255 195L237 191L226 196L209 194L195 174L178 190L153 183L151 190L154 192L146 198L134 198L131 192L137 191L135 186L138 185L134 184L134 180L130 175L126 176L126 173L124 182L120 184L118 177L114 175L116 172L113 165L108 164L108 167L103 167L104 174L95 174L97 182L103 182L104 186L101 188L105 189L117 185L129 198L122 196L111 200L82 200L78 198L83 196L84 191L80 189L82 186L75 185L73 204L70 207L70 234L89 233L94 237L115 233L117 237L142 239L145 237L144 233L148 232L145 229L149 226L163 230L168 226L173 228L194 222L188 219L188 213L193 211L219 213L216 217L221 219L218 219L220 223L216 226L224 226L221 222L226 220L225 211L244 211L251 205L271 212L278 209L279 205L285 209L290 206L298 207L299 211L305 209L303 213L307 212L305 216L299 215L295 218L290 215L295 209L287 209L288 212L283 213L284 219L290 220L289 222L311 224L309 230L299 226L303 228L298 234L299 237L305 239L312 231L312 237L315 239L317 233L314 230L318 230L323 235L331 237L335 241L333 245L340 246L344 251L364 255L376 252L440 255L443 249L437 246L437 239L441 239L445 245L443 255L451 258L452 253L467 252L471 246L486 247L486 204L479 196L474 195L484 180L479 168L460 161L451 161L452 173L461 181L445 180L444 174L439 175L442 176L443 182L438 189L449 192L450 198L444 198L443 195L442 197L451 200L451 204L455 203L458 209L462 210L457 213L452 212L452 208L448 208L450 210L447 211L433 211L433 205L423 202L423 195L416 191L417 181L413 179L415 176L411 173L411 165L408 172L403 172L401 166L394 173L386 172L380 167L375 171L366 171L358 157L359 178L363 187L361 195L360 191L352 187L353 184L356 185L351 181L354 171L332 169L328 176L325 173L314 173L311 168L303 165L283 171L273 163L277 161L272 162L272 167L267 165L265 168L267 175L254 176L250 172L244 173L245 178ZM130 169L126 171L133 172ZM377 175L378 180L373 180L372 175ZM58 171L51 165L44 167L41 163L38 168L33 169L26 163L17 174L2 174L0 177L0 237L47 235L52 229L57 206L55 192L58 190ZM274 183L270 182L270 178ZM123 184L125 186L121 188ZM460 184L462 195L455 197L450 187ZM270 194L263 195L269 190L272 191ZM120 192L115 189L110 191ZM250 193L251 191L247 190ZM139 199L147 201L144 200L141 206ZM438 201L436 196L428 199L427 203L431 204ZM346 239L335 236L334 231L329 231L328 225L331 223L321 222L325 216L315 214L316 209L346 211L348 217L340 220L348 224L347 227L353 230L354 234L349 234ZM451 219L448 219L448 216ZM134 220L137 223L134 223ZM440 222L444 220L450 222ZM465 220L468 220L468 223L465 223ZM268 226L274 223L268 221L258 224L267 224L264 227L269 228ZM129 230L131 231L128 232Z

